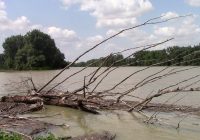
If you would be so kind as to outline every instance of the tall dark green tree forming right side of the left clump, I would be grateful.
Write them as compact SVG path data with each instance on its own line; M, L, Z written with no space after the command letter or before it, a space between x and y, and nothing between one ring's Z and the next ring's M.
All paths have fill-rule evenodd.
M34 60L38 61L37 67L45 66L50 68L61 68L66 64L64 54L56 48L55 42L47 34L39 30L33 30L25 35L26 44L31 44L33 48ZM45 61L44 63L42 61Z

